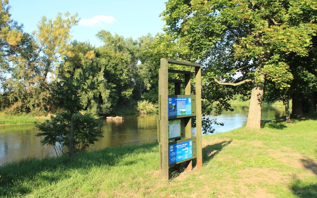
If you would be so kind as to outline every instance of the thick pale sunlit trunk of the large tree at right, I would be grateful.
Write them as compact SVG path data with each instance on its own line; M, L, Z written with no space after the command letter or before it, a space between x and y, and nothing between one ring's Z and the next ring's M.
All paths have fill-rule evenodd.
M260 82L254 82L251 92L249 114L247 120L247 129L260 129L261 127L261 110L262 99L264 93L264 80L265 77L260 77Z

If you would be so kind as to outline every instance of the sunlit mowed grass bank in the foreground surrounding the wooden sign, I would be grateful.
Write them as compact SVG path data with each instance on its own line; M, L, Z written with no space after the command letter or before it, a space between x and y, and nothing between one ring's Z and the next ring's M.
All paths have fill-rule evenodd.
M203 167L159 174L157 143L0 167L5 197L316 197L317 120L203 136ZM194 162L195 164L195 162Z

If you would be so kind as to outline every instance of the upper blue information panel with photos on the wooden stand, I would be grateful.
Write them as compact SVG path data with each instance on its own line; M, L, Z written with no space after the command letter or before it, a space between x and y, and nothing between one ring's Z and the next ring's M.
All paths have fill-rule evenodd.
M191 115L191 97L168 98L168 116Z

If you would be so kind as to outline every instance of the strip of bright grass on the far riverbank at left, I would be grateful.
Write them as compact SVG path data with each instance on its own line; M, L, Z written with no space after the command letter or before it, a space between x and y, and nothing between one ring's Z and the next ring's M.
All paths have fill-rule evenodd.
M15 124L29 124L29 123L41 123L49 119L48 116L34 116L31 114L21 115L8 115L4 112L0 112L0 126L1 125L15 125Z

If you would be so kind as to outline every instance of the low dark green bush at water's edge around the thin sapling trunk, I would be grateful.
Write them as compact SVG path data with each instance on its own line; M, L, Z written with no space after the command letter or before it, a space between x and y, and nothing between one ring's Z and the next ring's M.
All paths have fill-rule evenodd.
M41 125L36 125L40 133L36 136L44 136L41 140L42 145L52 145L57 156L62 156L67 153L69 147L71 116L68 113L59 113L56 116L51 116L50 120L46 120ZM101 118L94 118L90 113L75 113L73 116L74 127L74 151L84 152L89 145L98 141L98 137L103 137L98 127Z

